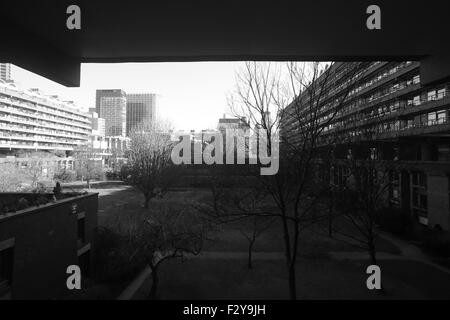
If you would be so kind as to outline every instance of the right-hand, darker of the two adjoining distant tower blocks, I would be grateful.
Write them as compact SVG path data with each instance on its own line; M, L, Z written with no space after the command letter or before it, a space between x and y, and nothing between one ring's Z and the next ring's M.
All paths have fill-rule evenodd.
M140 123L153 123L156 112L156 94L127 94L127 136Z

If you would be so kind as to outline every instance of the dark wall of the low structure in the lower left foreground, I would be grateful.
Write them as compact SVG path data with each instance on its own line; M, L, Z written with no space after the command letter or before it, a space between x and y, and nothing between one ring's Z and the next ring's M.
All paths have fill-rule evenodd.
M69 293L67 267L93 263L97 208L98 194L91 193L0 215L0 253L13 246L12 299Z

